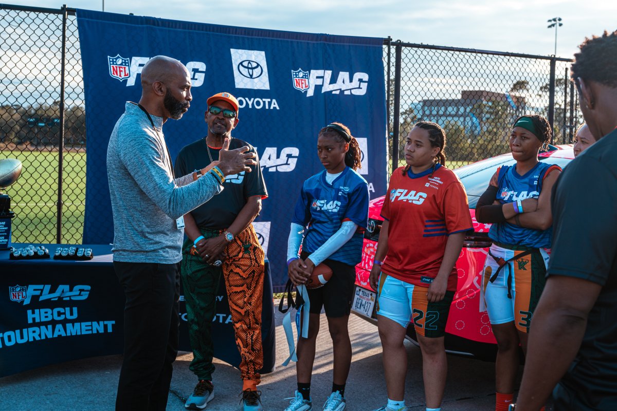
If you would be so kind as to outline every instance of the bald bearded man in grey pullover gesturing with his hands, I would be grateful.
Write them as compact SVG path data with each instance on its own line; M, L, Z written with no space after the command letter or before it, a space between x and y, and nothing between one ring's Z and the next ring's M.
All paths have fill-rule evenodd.
M107 147L114 269L126 295L116 410L131 411L167 406L178 352L182 216L220 193L225 176L256 164L249 147L228 150L226 140L219 161L174 176L162 126L188 110L191 75L159 55L144 65L141 87L139 104L126 102Z

